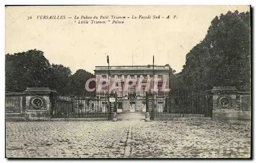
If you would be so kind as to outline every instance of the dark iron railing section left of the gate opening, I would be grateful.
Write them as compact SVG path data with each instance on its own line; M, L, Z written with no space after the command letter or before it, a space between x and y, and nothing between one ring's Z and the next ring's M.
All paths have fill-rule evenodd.
M56 95L54 99L53 118L108 118L110 114L105 92Z

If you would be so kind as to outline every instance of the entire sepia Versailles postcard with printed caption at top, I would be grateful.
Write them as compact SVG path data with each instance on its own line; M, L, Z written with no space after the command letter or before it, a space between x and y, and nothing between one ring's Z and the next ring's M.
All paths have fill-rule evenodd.
M250 6L6 6L6 158L251 158Z

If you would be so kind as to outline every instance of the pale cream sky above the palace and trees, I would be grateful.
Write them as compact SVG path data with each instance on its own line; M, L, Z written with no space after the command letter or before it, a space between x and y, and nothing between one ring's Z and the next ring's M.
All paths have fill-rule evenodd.
M19 6L6 7L6 54L41 50L72 73L95 66L169 64L180 72L186 54L206 35L215 16L249 6ZM65 19L40 19L51 15ZM126 16L123 24L78 24L75 16ZM132 19L132 15L137 19ZM160 15L160 19L138 16ZM170 19L166 19L167 16ZM176 18L174 19L174 15ZM30 17L31 16L31 17ZM39 17L39 18L38 18ZM68 18L72 17L72 18ZM76 21L75 21L76 20ZM108 19L106 19L107 21ZM102 19L103 21L103 19ZM133 57L132 57L133 56Z

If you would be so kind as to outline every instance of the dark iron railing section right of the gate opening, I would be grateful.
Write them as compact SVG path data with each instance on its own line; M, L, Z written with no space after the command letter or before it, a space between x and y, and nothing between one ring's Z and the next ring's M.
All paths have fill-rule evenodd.
M152 118L211 117L212 95L204 90L147 94L146 108Z

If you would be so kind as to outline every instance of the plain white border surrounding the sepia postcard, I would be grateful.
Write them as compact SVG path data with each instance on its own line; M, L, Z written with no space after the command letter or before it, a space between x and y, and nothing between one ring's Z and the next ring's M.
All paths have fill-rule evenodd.
M56 0L45 0L45 1L34 1L34 0L25 0L25 1L20 1L20 0L13 0L13 1L1 1L1 16L0 16L0 20L1 20L1 36L5 36L5 5L252 5L252 7L254 7L255 1L247 1L247 0L228 0L228 1L199 1L199 0L194 0L194 1L189 1L189 0L179 0L179 1L172 1L172 2L168 2L168 1L163 1L163 0L158 0L158 1L152 1L152 0L148 0L148 1L140 1L140 0L130 0L130 1L118 1L118 0L112 0L112 1L103 1L103 0L99 0L99 1L78 1L78 0L62 0L62 1L56 1ZM185 12L185 11L184 11ZM255 12L255 10L254 10ZM203 13L202 13L203 14ZM252 15L252 18L254 17L254 14ZM253 21L253 27L254 26L254 21ZM255 31L255 29L253 28L253 31ZM255 41L254 41L255 43ZM253 49L254 49L254 44L253 43ZM1 50L2 50L2 55L1 55L1 59L0 61L2 62L1 68L0 68L0 73L1 73L1 109L3 110L1 116L1 120L2 120L2 124L1 124L1 162L6 162L7 159L5 159L5 37L2 37L1 39ZM253 55L253 54L252 54ZM253 63L253 62L252 62ZM255 69L253 67L253 71L255 72ZM253 73L254 74L254 73ZM253 75L254 76L254 75ZM254 81L254 80L253 80ZM255 98L255 97L254 97ZM255 101L253 98L253 101ZM254 104L253 104L253 108L254 108ZM254 115L255 115L255 111L254 111ZM255 116L254 116L255 118ZM252 121L253 123L253 121ZM255 123L253 123L253 126L255 126ZM254 129L254 128L253 128ZM255 140L253 141L255 142ZM253 145L254 147L254 145ZM253 155L255 157L255 153L253 150ZM17 162L20 160L13 160L12 162ZM22 160L22 161L27 161L27 160ZM40 160L33 160L32 162L37 162ZM50 161L50 160L47 160ZM58 160L58 161L63 161L63 160ZM65 161L69 161L69 160L65 160ZM79 160L79 161L90 161L90 160ZM94 162L98 162L98 160L91 160ZM124 161L124 160L123 160ZM135 160L129 160L129 161L135 161ZM141 161L141 160L140 160ZM147 160L144 160L147 161ZM158 162L159 160L154 160L156 162ZM162 161L177 161L177 160L162 160ZM183 160L185 161L185 160ZM198 160L186 160L186 161L192 161L192 162L196 162ZM204 161L216 161L216 160L204 160ZM221 162L224 160L220 160ZM238 162L241 160L231 160L232 162ZM246 160L247 161L247 160Z

